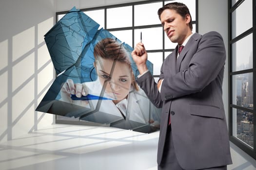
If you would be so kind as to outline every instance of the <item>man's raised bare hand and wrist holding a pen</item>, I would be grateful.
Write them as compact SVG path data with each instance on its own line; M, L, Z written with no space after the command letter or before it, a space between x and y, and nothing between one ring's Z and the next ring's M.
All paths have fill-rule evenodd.
M145 71L148 70L146 62L148 59L147 51L144 48L143 43L138 43L132 51L132 57L135 61L138 71L140 74L143 74Z

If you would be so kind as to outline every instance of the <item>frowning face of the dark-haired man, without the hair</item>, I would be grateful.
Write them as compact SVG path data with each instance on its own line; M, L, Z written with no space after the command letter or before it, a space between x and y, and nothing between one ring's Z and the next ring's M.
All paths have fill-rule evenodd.
M181 45L192 33L189 27L191 18L188 14L183 18L175 10L165 9L160 15L160 20L164 32L173 43Z

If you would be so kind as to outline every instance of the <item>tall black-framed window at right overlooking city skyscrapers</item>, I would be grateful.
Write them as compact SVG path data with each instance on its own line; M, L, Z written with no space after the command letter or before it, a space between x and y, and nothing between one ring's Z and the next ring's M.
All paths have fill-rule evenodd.
M256 2L229 0L230 140L256 159Z

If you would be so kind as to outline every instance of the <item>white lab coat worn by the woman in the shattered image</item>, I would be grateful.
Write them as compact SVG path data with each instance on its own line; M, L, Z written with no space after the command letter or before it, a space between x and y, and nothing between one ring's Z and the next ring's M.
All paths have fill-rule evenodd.
M88 87L89 94L100 96L102 86L98 80L85 84ZM86 116L87 113L85 113L85 116L81 116L82 120L109 124L126 119L127 121L132 120L141 124L149 124L151 119L155 121L155 124L159 124L161 109L156 108L140 88L137 91L131 86L128 98L117 104L111 100L91 100L88 102L89 104L86 107L89 107L90 111L88 116Z

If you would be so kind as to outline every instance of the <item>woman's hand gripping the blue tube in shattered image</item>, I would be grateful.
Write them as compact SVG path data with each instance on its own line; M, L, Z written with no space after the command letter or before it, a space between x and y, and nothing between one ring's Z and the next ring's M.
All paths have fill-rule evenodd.
M76 97L80 98L82 95L86 96L88 95L88 88L85 85L85 83L77 83L74 84L72 79L68 79L67 82L65 82L60 90L61 95L61 101L64 102L70 102L77 105L87 105L88 101L82 101L82 100L72 100L70 95L75 94Z

